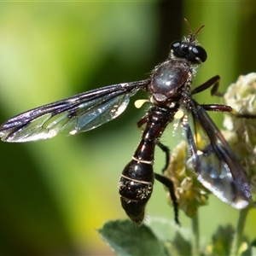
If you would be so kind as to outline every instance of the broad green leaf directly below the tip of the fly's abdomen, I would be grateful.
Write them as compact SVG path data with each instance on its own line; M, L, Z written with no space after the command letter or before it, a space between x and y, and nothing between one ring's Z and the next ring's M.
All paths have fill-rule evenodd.
M98 232L119 255L191 255L191 232L168 218L149 218L140 227L110 221Z

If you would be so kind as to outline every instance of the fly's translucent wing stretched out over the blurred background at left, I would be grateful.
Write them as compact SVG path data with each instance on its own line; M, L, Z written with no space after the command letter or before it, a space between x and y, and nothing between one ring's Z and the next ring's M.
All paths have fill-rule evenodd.
M123 113L130 96L147 83L113 84L33 108L3 123L0 137L5 142L23 143L55 137L58 132L73 135L94 129Z

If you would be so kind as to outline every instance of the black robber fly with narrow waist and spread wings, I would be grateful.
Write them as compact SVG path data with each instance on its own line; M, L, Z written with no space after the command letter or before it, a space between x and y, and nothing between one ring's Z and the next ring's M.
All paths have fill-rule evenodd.
M1 139L23 143L49 139L58 132L73 135L89 131L118 117L127 107L130 97L138 90L144 90L148 93L151 107L137 122L143 130L143 137L119 180L121 204L131 220L142 224L155 178L169 189L178 223L177 198L172 180L153 170L155 146L166 154L168 166L169 149L160 143L160 137L166 126L176 118L177 112L183 113L180 123L188 142L187 164L197 179L231 207L247 207L251 200L247 177L207 111L228 112L244 118L255 116L237 113L230 106L199 104L192 97L210 87L212 95L218 95L220 78L217 75L191 90L196 68L207 61L207 52L196 39L204 26L193 33L188 20L185 22L189 36L171 44L167 60L154 67L149 79L90 90L20 113L0 126ZM198 135L204 143L198 142Z

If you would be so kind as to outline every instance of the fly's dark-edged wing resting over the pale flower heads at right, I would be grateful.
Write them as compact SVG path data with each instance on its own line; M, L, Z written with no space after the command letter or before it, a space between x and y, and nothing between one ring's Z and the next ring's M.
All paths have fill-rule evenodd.
M191 107L189 121L183 118L189 143L189 169L221 201L237 209L247 207L250 186L236 155L205 109L192 99Z

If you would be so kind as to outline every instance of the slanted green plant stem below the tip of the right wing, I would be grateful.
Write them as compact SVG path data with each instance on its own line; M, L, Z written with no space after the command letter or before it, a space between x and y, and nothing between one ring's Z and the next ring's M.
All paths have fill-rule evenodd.
M239 213L239 218L236 226L236 233L234 236L234 240L232 242L230 255L239 255L238 251L239 247L241 246L242 231L246 222L247 213L249 212L250 208L250 206L246 207L245 209L242 209Z

